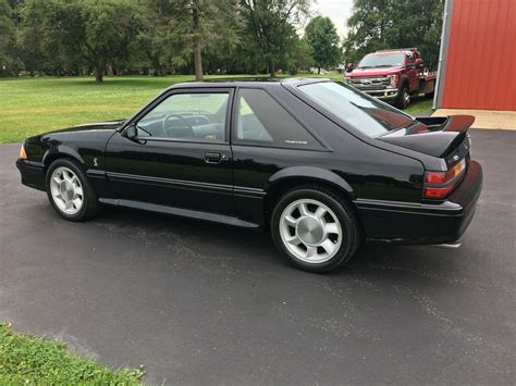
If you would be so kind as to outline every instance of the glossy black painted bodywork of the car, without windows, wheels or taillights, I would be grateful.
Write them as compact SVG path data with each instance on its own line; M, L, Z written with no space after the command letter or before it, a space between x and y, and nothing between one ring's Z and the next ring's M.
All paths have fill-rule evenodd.
M130 120L28 138L29 161L17 161L22 182L45 189L45 169L57 157L65 155L84 166L101 202L249 227L267 226L279 191L299 184L324 184L354 203L369 239L445 242L458 238L480 194L481 167L470 161L465 178L472 180L475 195L464 192L463 183L447 200L426 202L425 171L444 171L446 160L346 126L297 89L309 82L314 80L172 86ZM171 92L221 88L234 90L233 97L243 87L269 92L322 149L127 138L127 128ZM234 116L233 109L234 102L228 116ZM228 133L233 120L226 120ZM207 153L213 152L222 155L220 163L206 162Z

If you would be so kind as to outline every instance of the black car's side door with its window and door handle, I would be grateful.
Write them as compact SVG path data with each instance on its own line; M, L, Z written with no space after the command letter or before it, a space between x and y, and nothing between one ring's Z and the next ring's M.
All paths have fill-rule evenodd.
M116 198L233 214L232 98L231 88L174 89L115 134L106 162Z

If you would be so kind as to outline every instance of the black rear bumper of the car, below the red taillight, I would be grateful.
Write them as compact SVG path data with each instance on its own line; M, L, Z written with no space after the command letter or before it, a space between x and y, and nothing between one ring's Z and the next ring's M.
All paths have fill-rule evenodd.
M401 244L456 241L475 215L482 179L482 167L471 161L460 186L441 203L356 200L366 237Z

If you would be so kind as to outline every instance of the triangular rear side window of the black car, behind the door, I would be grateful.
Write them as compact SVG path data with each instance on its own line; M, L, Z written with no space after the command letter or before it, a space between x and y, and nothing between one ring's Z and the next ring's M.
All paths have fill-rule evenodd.
M233 141L278 148L321 149L321 145L261 89L238 92Z

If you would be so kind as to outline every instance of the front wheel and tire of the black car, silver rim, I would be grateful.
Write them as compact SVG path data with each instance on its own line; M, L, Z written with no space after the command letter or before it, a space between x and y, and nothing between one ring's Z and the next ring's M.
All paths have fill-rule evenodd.
M83 167L61 158L53 161L46 174L47 196L53 209L65 220L85 221L97 214L97 196Z

